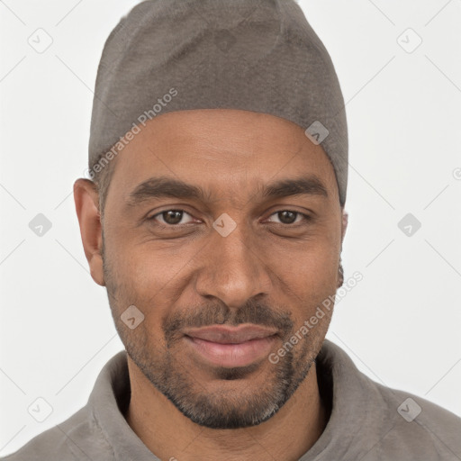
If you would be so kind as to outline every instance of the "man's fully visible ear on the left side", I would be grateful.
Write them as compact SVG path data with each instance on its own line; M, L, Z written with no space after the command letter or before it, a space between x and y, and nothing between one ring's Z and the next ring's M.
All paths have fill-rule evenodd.
M80 235L90 274L95 283L105 286L103 271L103 236L99 213L99 194L93 181L80 177L74 183L74 201Z

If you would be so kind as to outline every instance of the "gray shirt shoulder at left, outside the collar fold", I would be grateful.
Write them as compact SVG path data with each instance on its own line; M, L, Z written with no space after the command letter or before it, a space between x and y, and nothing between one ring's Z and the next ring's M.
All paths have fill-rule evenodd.
M32 438L0 461L113 460L113 451L86 407Z

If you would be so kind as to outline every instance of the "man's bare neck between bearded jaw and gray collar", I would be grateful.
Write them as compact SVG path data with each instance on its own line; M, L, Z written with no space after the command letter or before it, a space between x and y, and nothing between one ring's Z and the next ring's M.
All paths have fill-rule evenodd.
M125 418L160 459L297 461L321 436L330 416L321 402L315 362L303 383L272 418L243 429L209 429L195 424L158 392L130 357L128 367L131 401Z

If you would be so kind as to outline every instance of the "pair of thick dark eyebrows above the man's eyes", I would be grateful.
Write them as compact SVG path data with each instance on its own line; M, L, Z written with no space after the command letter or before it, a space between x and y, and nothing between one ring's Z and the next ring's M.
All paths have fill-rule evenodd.
M286 178L258 187L263 198L283 198L293 195L320 195L327 198L327 188L318 176L307 175L298 178ZM209 201L212 194L197 185L166 176L151 177L142 182L129 194L127 204L136 206L152 198L179 198Z

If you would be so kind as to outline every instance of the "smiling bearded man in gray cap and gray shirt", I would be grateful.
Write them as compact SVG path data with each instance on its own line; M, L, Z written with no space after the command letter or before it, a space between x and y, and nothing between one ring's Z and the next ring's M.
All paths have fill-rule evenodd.
M325 339L347 165L339 81L294 1L131 10L96 79L94 181L74 186L126 352L5 459L461 459L459 418Z

